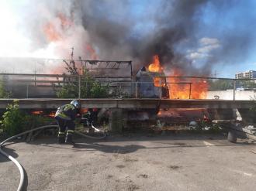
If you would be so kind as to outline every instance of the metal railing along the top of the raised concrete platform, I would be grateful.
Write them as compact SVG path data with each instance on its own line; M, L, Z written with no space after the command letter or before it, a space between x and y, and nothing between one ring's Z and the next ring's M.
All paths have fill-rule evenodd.
M0 73L2 87L13 98L56 98L57 92L70 85L74 94L66 98L93 98L92 83L81 76L51 74ZM160 99L256 99L256 79L216 77L95 77L108 94L101 98Z

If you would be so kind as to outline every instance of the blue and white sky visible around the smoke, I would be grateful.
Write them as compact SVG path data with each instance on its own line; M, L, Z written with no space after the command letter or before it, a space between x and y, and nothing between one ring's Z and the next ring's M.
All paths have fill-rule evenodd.
M2 45L0 59L1 57L61 58L62 55L56 53L60 44L36 43L34 33L37 29L33 28L36 19L33 20L33 18L38 17L38 22L41 18L46 18L46 16L37 15L41 14L37 12L37 9L41 7L42 2L49 1L0 0L0 43ZM109 2L119 4L118 0ZM138 41L145 40L144 37L147 34L150 36L152 31L156 31L157 34L157 27L160 27L157 19L161 19L161 15L164 15L161 7L163 4L159 2L164 2L164 0L123 2L126 2L127 7L123 11L111 9L111 6L109 6L110 10L101 10L99 6L99 12L106 14L103 17L106 16L116 22L132 23L129 36ZM192 21L195 25L192 30L194 32L172 45L175 53L184 55L195 68L211 67L211 75L216 74L216 77L234 77L238 72L256 70L256 1L206 2L193 14ZM172 11L175 12L175 10ZM155 19L156 15L157 19ZM179 18L169 18L169 22L175 25L179 22L177 19ZM80 31L80 28L76 30ZM186 30L189 31L189 29ZM89 34L87 31L82 31L82 36L87 38ZM90 42L93 44L92 39ZM68 42L70 41L66 40L65 43ZM69 46L72 45L68 44L67 47ZM97 43L95 43L95 49L96 51L99 49L98 52L101 51ZM30 70L29 66L26 67ZM20 71L14 68L16 68L15 64L12 65L12 71ZM2 69L2 71L10 72L9 69Z

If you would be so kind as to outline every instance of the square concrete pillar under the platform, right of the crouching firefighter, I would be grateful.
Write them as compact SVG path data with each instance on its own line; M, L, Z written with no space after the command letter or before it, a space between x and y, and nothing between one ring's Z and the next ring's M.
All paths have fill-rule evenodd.
M127 112L123 109L112 108L109 116L109 131L122 132L126 128Z

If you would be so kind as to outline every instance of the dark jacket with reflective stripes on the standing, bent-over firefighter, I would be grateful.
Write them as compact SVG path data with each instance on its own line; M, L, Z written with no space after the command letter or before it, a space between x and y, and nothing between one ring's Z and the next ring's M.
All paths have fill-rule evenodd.
M65 120L74 121L75 116L77 115L77 110L72 104L65 104L57 108L55 118L62 118Z

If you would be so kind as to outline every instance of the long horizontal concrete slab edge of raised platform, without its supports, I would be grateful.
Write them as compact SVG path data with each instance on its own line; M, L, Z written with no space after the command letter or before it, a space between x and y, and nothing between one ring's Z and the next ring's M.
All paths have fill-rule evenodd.
M15 99L0 99L0 109L5 109ZM22 109L56 109L71 99L17 99ZM254 101L227 100L169 100L169 99L81 99L85 108L154 109L154 108L206 108L249 109Z

